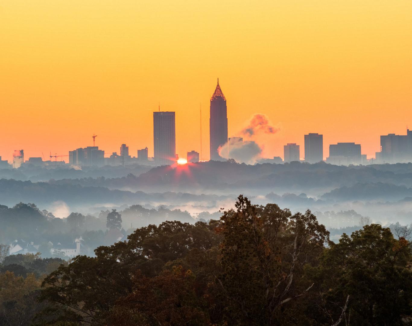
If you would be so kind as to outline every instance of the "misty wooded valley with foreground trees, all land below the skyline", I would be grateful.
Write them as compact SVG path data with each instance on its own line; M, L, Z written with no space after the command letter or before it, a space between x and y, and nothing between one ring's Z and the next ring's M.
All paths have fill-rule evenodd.
M411 168L0 169L0 325L406 325Z

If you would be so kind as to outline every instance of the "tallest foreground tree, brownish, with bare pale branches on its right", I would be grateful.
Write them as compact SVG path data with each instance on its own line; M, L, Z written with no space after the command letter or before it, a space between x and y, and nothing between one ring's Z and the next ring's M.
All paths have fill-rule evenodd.
M277 310L304 296L313 283L303 266L316 262L329 232L307 211L292 215L276 204L253 206L243 196L222 216L221 264L217 277L236 325L279 324Z

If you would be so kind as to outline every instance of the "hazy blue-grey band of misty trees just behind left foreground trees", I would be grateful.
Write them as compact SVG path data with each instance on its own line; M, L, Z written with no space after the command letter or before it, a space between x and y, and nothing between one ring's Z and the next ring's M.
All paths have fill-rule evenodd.
M93 250L101 245L110 245L120 237L129 235L137 227L148 224L160 224L166 220L178 220L194 223L187 211L170 210L162 206L157 209L145 209L132 205L119 211L122 219L120 232L113 233L107 227L109 210L101 211L98 216L70 213L67 218L56 218L47 210L40 210L35 204L19 203L13 207L0 205L0 243L11 244L15 240L33 242L39 245L38 251L43 257L50 256L51 245L72 244L75 239L82 239L81 253L94 255ZM208 212L199 214L210 219L219 217Z

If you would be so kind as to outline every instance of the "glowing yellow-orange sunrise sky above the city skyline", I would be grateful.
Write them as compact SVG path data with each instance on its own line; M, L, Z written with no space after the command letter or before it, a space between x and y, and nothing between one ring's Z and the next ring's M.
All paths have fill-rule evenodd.
M229 136L254 113L281 131L266 157L323 133L375 156L412 126L412 2L2 0L0 155L96 145L153 153L152 111L176 111L176 149L208 159L216 78Z

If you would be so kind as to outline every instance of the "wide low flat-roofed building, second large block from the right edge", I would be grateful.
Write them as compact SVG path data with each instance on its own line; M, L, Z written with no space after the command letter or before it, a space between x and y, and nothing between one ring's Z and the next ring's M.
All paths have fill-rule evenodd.
M337 143L329 145L329 157L326 163L335 165L361 164L361 145L355 143Z

